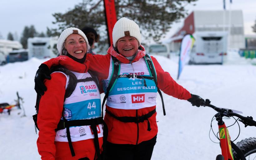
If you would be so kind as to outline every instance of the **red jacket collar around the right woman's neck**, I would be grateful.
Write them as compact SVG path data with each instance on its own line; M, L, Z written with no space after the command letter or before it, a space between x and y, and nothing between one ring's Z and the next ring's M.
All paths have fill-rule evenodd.
M138 49L138 53L136 55L136 57L131 61L131 62L136 62L136 61L139 61L140 58L144 57L145 54L146 54L146 51L145 51L145 48L144 46L140 45L140 47L142 48L142 50L139 50ZM111 45L109 48L108 48L108 51L107 51L108 54L110 54L111 56L114 56L116 57L119 61L121 61L122 63L130 63L130 60L128 60L125 56L117 53L113 47L113 45Z

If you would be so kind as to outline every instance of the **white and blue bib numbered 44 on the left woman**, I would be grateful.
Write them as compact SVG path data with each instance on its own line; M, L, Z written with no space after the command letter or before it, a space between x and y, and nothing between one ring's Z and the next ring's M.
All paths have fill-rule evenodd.
M78 80L91 77L88 72L71 72L76 75ZM67 77L67 87L69 75L64 75ZM68 121L79 119L95 119L101 117L101 97L96 83L94 81L78 82L71 96L65 99L63 114L65 119ZM98 137L103 137L103 125L99 124L96 127L98 131ZM89 125L70 127L70 136L71 142L94 138L93 131ZM68 142L66 128L56 132L55 141Z

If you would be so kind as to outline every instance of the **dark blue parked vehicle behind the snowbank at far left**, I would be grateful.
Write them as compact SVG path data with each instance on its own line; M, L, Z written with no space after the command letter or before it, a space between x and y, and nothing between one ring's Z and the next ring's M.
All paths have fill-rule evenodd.
M9 53L7 56L7 62L13 63L13 62L22 62L28 60L28 50L21 49L21 50L14 50Z

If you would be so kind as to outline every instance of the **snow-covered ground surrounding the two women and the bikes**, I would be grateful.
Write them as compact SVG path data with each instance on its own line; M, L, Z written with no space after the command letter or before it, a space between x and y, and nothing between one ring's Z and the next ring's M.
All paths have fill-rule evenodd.
M176 80L178 58L167 59L155 56L163 69ZM24 99L26 117L22 110L12 110L11 115L0 114L0 159L1 160L35 160L40 159L37 152L32 115L35 114L36 92L34 76L37 67L46 60L31 59L0 66L0 103L15 104L16 91ZM210 99L218 107L230 108L244 112L256 119L256 65L250 60L240 58L237 52L229 52L224 65L186 65L177 82L192 94ZM103 95L101 95L103 97ZM166 116L163 116L161 100L157 99L157 120L159 132L152 160L185 159L215 160L221 153L218 143L209 139L210 122L213 109L192 106L186 100L163 95ZM20 114L19 114L20 113ZM234 119L225 120L226 125ZM217 132L217 122L213 122ZM256 127L240 125L238 142L244 138L255 137ZM231 139L238 135L238 126L230 127ZM210 134L215 142L213 134Z

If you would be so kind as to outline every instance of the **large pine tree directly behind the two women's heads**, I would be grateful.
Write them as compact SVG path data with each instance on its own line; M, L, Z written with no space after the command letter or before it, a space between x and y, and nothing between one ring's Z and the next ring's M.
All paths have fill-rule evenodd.
M187 15L185 5L197 0L115 0L117 19L127 17L134 20L146 39L159 41L169 31L171 24ZM52 30L60 34L67 27L82 28L91 26L99 30L106 28L103 0L83 0L65 13L54 13L54 24L58 29ZM103 31L101 41L107 40L107 32Z

